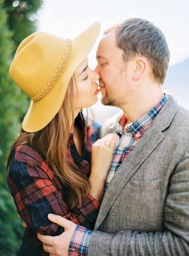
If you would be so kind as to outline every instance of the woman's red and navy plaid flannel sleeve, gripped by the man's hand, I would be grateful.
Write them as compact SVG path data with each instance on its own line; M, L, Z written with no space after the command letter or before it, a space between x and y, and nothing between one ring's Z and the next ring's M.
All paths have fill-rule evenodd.
M15 161L11 164L7 177L11 195L17 211L27 226L36 233L57 236L64 230L49 221L47 215L54 213L92 229L100 204L88 195L70 210L55 179L51 179L43 169L32 163Z

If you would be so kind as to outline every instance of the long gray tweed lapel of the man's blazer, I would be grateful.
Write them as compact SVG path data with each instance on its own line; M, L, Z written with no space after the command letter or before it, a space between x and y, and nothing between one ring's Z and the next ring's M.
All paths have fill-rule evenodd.
M115 172L115 175L104 194L94 230L97 230L103 222L109 209L128 180L134 175L149 154L151 154L163 140L164 135L162 131L170 125L177 110L178 105L172 99L172 96L169 96L166 104L160 113L158 113L158 116L143 134L143 137L137 142L128 157L126 157L126 160L123 161Z

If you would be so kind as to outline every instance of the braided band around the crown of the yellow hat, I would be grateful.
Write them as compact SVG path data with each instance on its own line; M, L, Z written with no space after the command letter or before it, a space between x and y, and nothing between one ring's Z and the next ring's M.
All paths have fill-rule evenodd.
M69 63L69 58L72 53L72 49L73 49L72 41L70 39L66 39L66 41L67 41L66 49L64 51L64 54L60 63L58 64L56 71L54 72L52 78L49 80L48 84L46 84L46 86L42 90L40 90L39 93L31 97L33 101L37 101L43 98L43 96L45 96L49 92L49 90L51 90L53 85L56 84L56 82L58 81L58 79L60 78L64 70L66 69Z

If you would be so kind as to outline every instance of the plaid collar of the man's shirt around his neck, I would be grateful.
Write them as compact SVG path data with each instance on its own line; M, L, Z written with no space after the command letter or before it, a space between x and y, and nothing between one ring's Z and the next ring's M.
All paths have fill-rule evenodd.
M145 114L135 122L132 122L129 125L126 125L126 131L127 132L131 131L133 136L135 137L135 140L139 140L143 136L144 132L146 131L146 128L151 124L151 122L158 115L160 109L163 107L168 97L169 97L169 94L166 94L163 97L163 99L158 103L158 105L152 108L147 114ZM124 134L123 128L126 122L127 122L126 114L123 113L123 111L121 111L120 115L118 116L115 122L114 131L121 135Z

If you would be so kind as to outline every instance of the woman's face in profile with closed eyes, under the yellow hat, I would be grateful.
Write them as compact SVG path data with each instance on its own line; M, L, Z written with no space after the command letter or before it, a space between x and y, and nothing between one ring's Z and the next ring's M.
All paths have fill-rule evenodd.
M97 102L99 93L96 83L100 76L88 67L88 58L86 58L74 73L77 89L74 85L74 103L76 109L87 108Z

